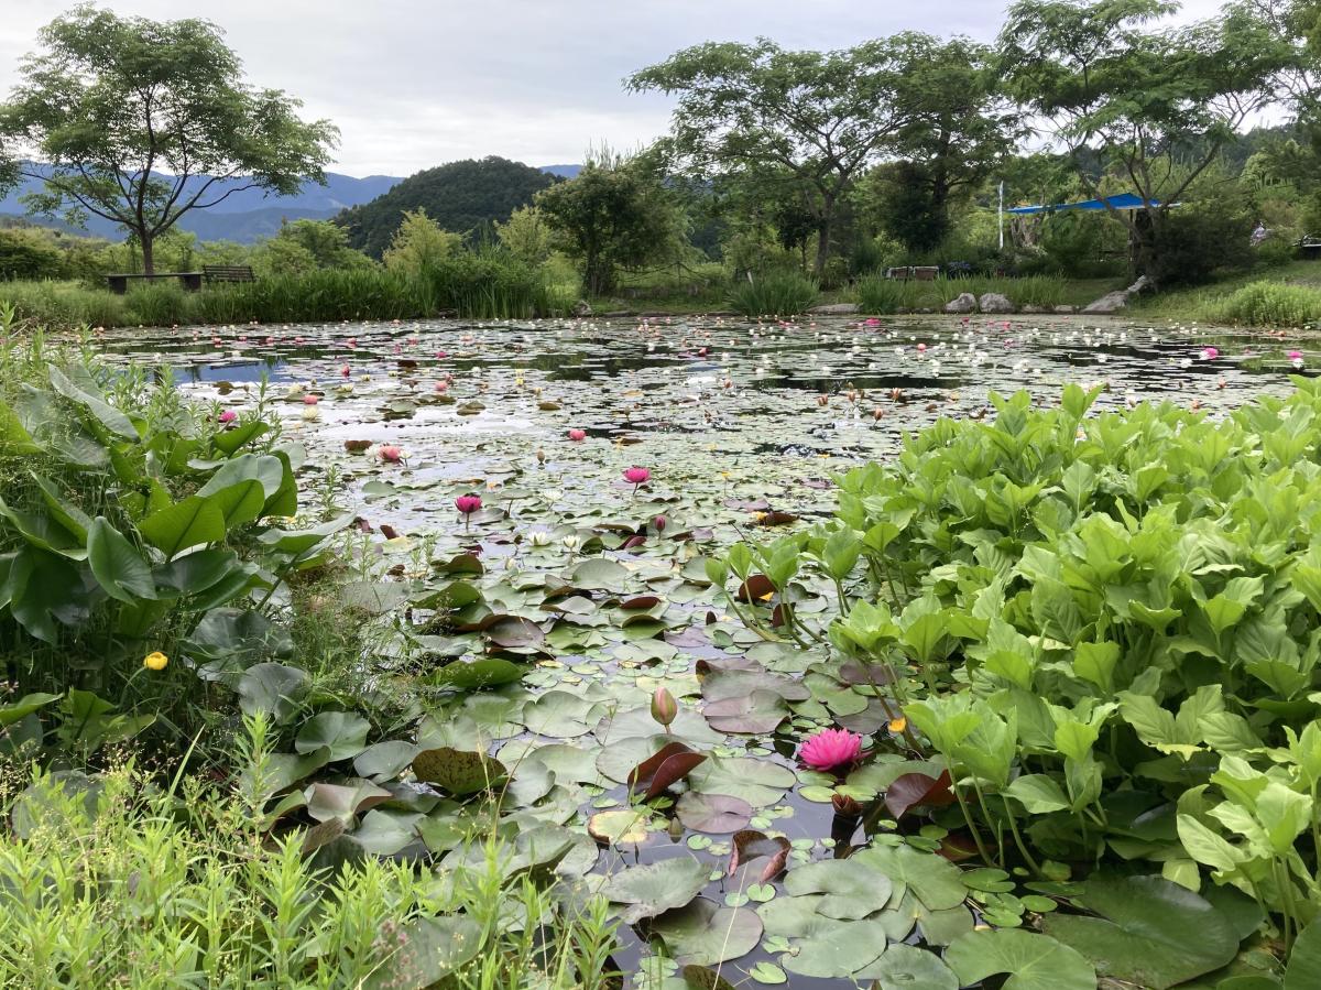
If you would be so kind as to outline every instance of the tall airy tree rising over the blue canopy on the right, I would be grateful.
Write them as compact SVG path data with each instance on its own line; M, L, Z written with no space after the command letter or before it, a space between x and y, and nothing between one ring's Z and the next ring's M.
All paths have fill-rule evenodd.
M1143 200L1111 215L1133 263L1155 280L1172 205L1235 131L1279 99L1297 52L1255 11L1151 28L1177 11L1164 0L1018 0L1000 34L1011 93L1073 157L1090 196L1102 174Z

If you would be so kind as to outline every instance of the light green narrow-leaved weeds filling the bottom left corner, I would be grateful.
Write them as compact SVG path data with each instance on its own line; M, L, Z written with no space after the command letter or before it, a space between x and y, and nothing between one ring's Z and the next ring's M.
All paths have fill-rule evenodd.
M260 732L248 723L250 745ZM250 769L269 759L246 757ZM272 838L242 785L157 789L131 765L38 773L18 794L26 781L3 782L0 986L612 985L604 903L559 903L509 870L494 834L432 872L305 849L303 830Z

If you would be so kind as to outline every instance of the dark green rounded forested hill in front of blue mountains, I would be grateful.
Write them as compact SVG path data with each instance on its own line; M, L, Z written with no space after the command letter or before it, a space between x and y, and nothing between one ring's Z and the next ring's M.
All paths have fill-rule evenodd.
M501 157L468 159L419 172L370 202L343 210L336 223L349 243L379 258L404 210L424 209L446 230L466 234L482 223L506 221L542 189L560 181L539 168Z

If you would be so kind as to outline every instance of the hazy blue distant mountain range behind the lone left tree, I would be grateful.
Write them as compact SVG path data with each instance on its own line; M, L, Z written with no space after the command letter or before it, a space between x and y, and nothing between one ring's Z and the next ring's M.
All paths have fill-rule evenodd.
M553 176L572 178L580 171L580 165L544 165L540 171ZM190 188L196 189L205 177L192 180ZM306 182L293 196L266 196L260 189L247 189L230 194L223 202L206 210L190 210L180 219L182 230L197 234L199 241L235 241L240 245L250 245L263 237L271 237L280 229L284 219L330 219L341 211L371 202L379 196L390 192L403 181L402 176L345 176L337 172L326 173L326 184L317 185ZM230 181L229 185L242 185ZM226 184L221 184L223 190ZM25 178L16 188L0 197L0 215L24 215L25 208L20 197L29 192L41 189L37 178ZM41 218L32 218L37 223L44 223ZM67 229L65 223L52 222L50 226ZM104 237L111 241L123 238L123 231L118 225L89 217L83 233Z

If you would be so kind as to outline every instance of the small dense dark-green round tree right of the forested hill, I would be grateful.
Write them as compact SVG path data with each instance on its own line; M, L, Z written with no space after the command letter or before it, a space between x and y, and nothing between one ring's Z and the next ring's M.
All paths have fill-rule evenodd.
M593 296L614 291L620 268L672 260L687 246L687 218L646 155L593 152L575 178L538 193L536 209Z

